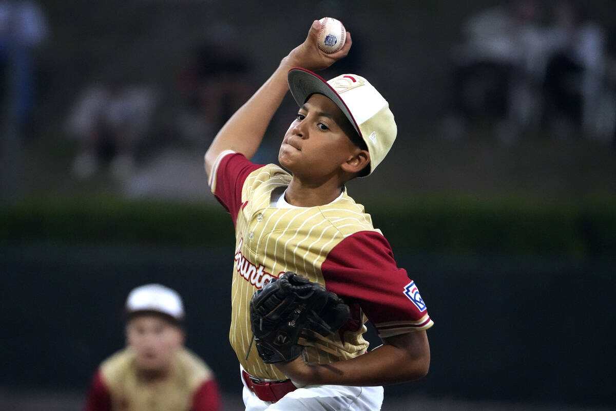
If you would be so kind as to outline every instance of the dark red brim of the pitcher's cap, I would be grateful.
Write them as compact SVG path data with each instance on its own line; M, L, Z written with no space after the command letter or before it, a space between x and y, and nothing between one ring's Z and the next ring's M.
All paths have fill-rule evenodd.
M359 125L351 114L349 107L344 104L344 100L341 99L338 92L336 92L324 78L301 67L291 68L286 78L289 83L291 96L293 96L293 99L295 99L299 106L304 105L312 94L323 94L323 96L328 97L340 108L342 113L344 113L346 118L351 122L355 131L363 138L362 131L360 131Z

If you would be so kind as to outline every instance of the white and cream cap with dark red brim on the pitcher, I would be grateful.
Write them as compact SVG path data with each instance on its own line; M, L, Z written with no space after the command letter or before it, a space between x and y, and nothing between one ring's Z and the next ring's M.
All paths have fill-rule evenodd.
M303 105L312 94L329 97L349 119L366 142L370 153L370 173L385 158L394 144L397 126L389 103L368 83L355 74L342 74L326 81L305 68L295 67L287 75L291 95Z

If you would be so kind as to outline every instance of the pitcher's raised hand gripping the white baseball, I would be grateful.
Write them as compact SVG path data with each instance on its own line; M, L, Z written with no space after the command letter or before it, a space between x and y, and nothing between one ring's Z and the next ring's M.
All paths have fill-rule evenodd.
M330 67L333 63L349 54L349 50L353 44L351 33L347 31L346 41L342 49L335 53L327 54L321 51L317 45L320 28L321 23L318 20L312 22L312 26L310 26L308 36L304 43L295 47L289 55L283 59L282 64L288 66L288 68L302 67L310 71L318 71Z

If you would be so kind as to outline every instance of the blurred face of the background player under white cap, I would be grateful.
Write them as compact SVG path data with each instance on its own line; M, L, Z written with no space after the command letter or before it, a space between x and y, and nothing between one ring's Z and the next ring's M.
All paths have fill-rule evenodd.
M154 315L139 315L126 326L126 339L136 352L137 367L146 371L163 371L172 355L184 343L184 333Z

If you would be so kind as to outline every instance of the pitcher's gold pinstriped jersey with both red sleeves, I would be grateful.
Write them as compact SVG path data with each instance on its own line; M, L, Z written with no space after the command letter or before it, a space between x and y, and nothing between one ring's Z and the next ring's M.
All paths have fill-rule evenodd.
M351 319L338 333L301 341L309 362L326 364L364 354L367 319L383 337L431 327L415 283L396 266L389 243L363 206L345 189L326 205L278 207L277 193L290 181L282 168L256 165L232 151L219 155L209 179L235 225L229 341L246 372L262 379L286 378L262 362L256 348L250 349L249 318L254 292L286 271L324 285L351 307Z

